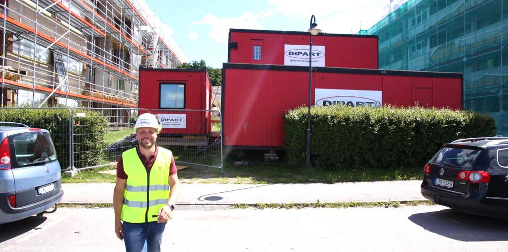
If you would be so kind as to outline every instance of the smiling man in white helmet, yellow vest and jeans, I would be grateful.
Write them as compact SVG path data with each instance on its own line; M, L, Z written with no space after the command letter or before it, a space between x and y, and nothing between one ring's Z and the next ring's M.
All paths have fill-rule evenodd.
M155 144L161 129L154 115L140 115L134 125L138 145L118 159L115 233L127 251L161 251L162 234L180 193L172 152Z

